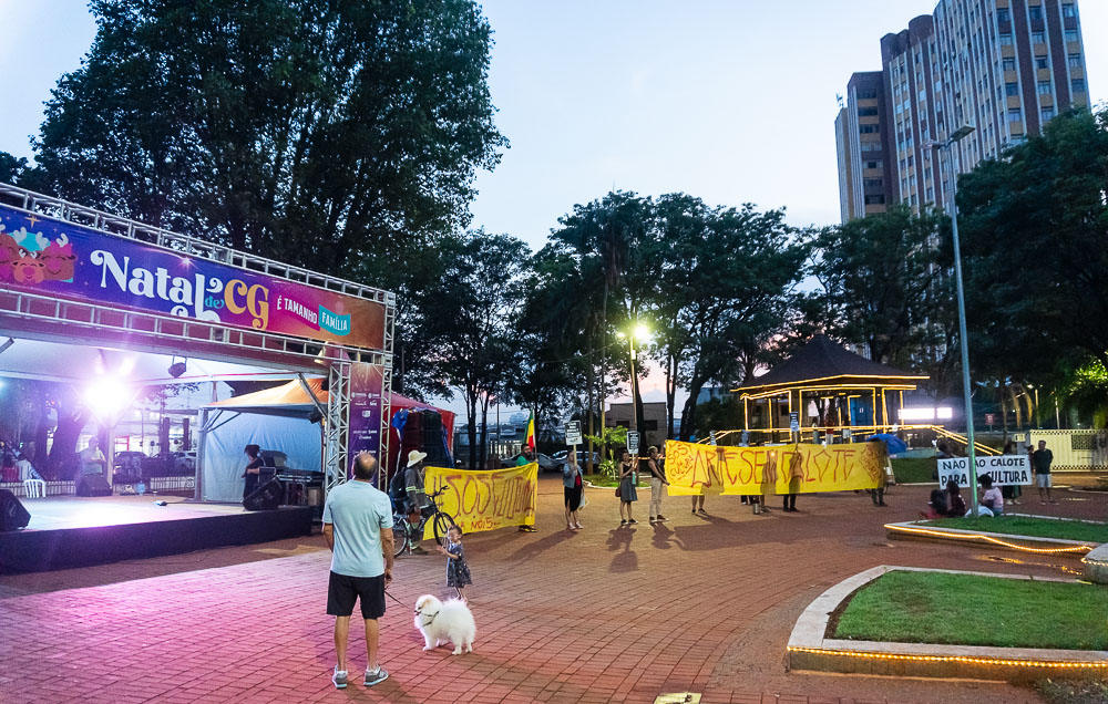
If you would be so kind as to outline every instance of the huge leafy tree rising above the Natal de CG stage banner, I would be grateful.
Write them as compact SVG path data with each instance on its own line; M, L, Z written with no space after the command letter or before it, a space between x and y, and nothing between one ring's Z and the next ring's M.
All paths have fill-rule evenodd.
M499 159L471 0L93 0L34 183L342 273L464 228Z

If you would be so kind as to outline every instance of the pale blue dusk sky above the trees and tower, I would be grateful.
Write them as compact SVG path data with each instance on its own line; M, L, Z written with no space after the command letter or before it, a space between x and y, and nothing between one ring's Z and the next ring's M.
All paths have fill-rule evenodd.
M576 203L611 188L839 220L835 94L880 70L881 37L932 0L492 0L490 75L511 141L478 179L473 225L533 248ZM1092 100L1108 97L1108 2L1079 3ZM0 151L28 136L95 24L81 0L0 0ZM14 41L14 38L21 38ZM95 205L95 204L88 204ZM659 375L644 382L660 397Z

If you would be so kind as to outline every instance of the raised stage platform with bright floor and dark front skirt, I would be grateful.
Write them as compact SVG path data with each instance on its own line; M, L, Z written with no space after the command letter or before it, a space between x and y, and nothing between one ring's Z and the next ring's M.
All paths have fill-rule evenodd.
M165 500L166 506L154 501ZM41 572L250 545L311 532L311 507L248 511L172 496L23 499L31 522L0 532L0 573Z

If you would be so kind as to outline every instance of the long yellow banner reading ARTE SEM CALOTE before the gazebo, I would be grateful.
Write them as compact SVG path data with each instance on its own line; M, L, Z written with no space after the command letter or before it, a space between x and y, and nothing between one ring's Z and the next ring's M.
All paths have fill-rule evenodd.
M884 482L886 460L884 443L714 447L666 441L671 496L873 489Z

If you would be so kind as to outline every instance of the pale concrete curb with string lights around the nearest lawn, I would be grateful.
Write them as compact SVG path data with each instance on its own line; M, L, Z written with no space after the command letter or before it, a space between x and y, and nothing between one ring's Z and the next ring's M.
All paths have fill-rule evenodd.
M855 591L886 572L944 572L1003 579L1071 582L1063 578L996 574L881 565L828 589L804 609L789 636L789 670L1033 682L1044 677L1106 677L1108 651L992 648L933 643L889 643L827 638L831 614Z

